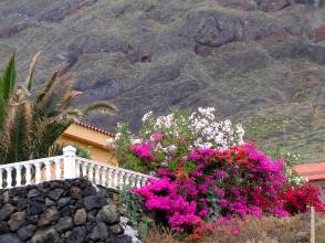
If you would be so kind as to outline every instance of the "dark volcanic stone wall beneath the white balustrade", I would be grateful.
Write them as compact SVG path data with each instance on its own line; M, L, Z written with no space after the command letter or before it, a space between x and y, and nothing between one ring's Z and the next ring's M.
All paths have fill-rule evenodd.
M0 190L0 243L130 243L112 199L85 179Z

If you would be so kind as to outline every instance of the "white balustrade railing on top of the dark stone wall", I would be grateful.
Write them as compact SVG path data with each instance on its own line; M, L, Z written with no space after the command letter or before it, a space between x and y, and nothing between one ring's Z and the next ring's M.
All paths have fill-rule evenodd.
M75 156L67 146L63 156L0 166L0 189L38 184L40 182L84 177L95 184L120 189L123 186L140 188L154 177L108 166Z

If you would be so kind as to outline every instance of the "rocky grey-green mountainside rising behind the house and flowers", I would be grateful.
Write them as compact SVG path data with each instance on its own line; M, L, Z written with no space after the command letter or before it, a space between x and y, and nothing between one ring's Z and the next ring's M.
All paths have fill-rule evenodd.
M0 60L38 73L61 63L84 95L112 101L134 129L149 109L216 106L253 137L324 160L323 0L2 0ZM308 159L308 160L307 160Z

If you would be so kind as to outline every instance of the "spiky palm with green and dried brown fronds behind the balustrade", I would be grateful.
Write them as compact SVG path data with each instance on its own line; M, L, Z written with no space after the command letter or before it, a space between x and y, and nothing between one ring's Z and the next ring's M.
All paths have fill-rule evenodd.
M0 76L1 163L46 157L55 150L53 144L72 123L91 112L112 114L116 110L109 103L72 108L72 102L81 93L73 91L71 76L61 75L64 66L49 76L43 89L32 99L30 92L39 56L40 53L31 62L24 86L17 85L14 56Z

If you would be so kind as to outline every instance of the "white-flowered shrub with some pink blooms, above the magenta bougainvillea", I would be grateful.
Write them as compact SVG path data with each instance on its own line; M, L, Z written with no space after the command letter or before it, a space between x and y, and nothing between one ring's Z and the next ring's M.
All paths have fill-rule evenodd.
M159 117L149 112L143 118L138 136L122 124L117 127L116 139L109 140L108 146L116 148L116 156L124 168L156 172L160 167L171 170L187 167L185 161L195 149L241 145L243 134L241 124L234 126L230 120L217 122L212 107L198 108L192 113L172 110Z

